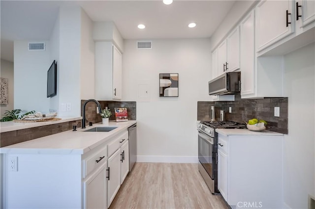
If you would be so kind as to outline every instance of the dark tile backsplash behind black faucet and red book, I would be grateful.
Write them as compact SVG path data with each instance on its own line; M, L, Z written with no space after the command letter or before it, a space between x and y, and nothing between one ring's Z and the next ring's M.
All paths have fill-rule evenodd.
M81 100L81 107L83 106L86 100ZM112 112L112 116L109 120L116 120L115 118L115 108L117 107L126 107L128 112L128 120L136 120L136 102L116 102L116 101L98 101L102 109L105 109L107 106ZM99 123L102 121L102 117L96 113L97 105L93 102L86 104L85 115L86 115L86 124L88 122ZM81 108L82 109L82 108ZM81 112L82 115L82 112Z

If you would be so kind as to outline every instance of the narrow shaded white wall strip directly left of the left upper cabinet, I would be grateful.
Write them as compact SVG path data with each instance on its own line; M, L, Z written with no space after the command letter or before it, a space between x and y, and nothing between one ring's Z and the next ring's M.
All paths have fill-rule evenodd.
M93 40L93 22L81 9L81 99L95 98L95 43Z

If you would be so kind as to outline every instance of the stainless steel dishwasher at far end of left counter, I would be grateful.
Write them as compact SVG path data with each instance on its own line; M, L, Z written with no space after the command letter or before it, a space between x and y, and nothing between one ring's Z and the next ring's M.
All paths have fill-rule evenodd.
M137 160L137 124L128 128L129 134L129 171Z

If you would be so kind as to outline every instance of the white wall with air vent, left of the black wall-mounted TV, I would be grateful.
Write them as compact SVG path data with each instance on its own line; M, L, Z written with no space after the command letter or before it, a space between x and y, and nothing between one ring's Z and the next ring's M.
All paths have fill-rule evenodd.
M14 109L47 113L47 71L52 63L50 43L44 41L45 51L29 51L29 42L37 41L14 41Z

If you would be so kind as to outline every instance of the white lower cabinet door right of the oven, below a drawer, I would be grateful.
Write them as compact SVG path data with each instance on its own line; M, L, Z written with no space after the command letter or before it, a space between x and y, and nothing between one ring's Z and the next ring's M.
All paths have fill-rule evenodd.
M228 159L227 155L218 150L218 189L225 201L227 200L227 181L228 181Z

